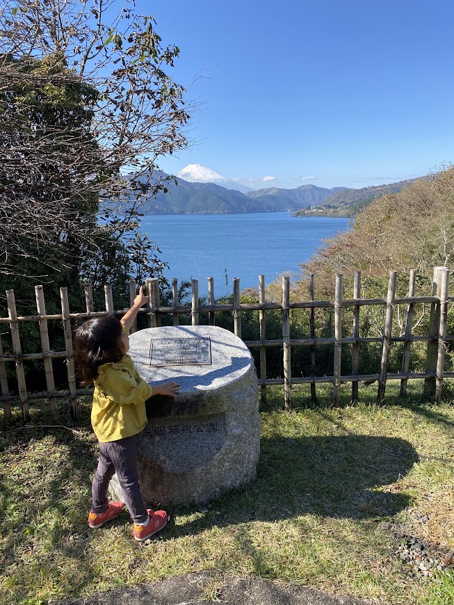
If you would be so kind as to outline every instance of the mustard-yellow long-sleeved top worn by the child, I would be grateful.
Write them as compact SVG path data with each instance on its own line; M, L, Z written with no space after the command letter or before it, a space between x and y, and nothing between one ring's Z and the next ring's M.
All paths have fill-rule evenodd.
M91 421L100 442L137 435L147 424L145 400L150 387L140 378L129 355L117 363L99 366L95 380Z

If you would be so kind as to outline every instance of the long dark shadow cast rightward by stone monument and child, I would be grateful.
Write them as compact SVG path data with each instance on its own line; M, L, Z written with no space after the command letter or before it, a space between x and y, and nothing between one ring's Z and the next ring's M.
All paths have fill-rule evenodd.
M394 484L418 461L412 445L396 437L262 438L257 479L211 508L180 507L175 513L207 512L177 533L302 515L387 518L409 506L410 496Z

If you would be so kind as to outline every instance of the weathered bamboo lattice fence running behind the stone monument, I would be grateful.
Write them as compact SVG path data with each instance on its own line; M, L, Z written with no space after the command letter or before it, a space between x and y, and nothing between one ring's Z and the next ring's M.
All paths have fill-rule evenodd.
M318 383L332 383L334 405L339 405L339 396L341 385L351 382L352 400L358 398L358 385L362 381L378 382L378 401L383 401L386 391L387 380L400 379L400 394L405 395L407 382L409 379L425 380L427 391L439 398L443 387L444 378L454 378L454 372L444 371L444 355L449 341L454 340L454 335L446 334L446 316L448 302L452 302L454 297L448 296L449 269L447 267L435 267L432 280L431 296L414 296L416 272L410 272L410 282L408 294L404 298L396 297L396 271L389 274L389 286L386 298L361 298L361 273L355 273L355 283L353 289L353 298L343 298L343 276L336 275L336 287L334 300L315 300L314 296L314 275L309 278L309 300L292 301L290 297L290 278L282 278L282 301L271 302L266 300L266 289L264 276L259 276L259 302L240 302L240 282L234 280L233 302L229 304L216 304L214 298L213 278L208 278L208 304L200 305L198 281L192 281L192 296L190 305L180 305L178 294L178 282L172 280L172 306L162 307L159 298L159 281L149 279L146 281L146 290L149 296L149 307L140 309L141 314L147 315L147 324L150 328L161 325L163 314L172 315L173 325L179 325L181 314L189 314L192 325L198 325L200 313L208 314L209 324L214 325L216 321L216 312L231 312L234 320L234 333L241 338L241 316L245 312L259 312L259 340L245 341L245 344L251 348L259 348L259 368L258 368L258 386L260 387L261 401L266 401L266 388L268 385L284 386L284 407L291 410L292 385L309 384L311 386L311 398L315 401L316 385ZM127 309L115 310L113 305L113 293L111 286L104 287L105 309L95 312L93 304L92 286L89 283L84 284L86 310L83 312L70 312L68 303L67 288L60 288L61 313L48 315L44 303L44 293L42 286L35 287L37 313L31 316L17 316L15 296L13 290L6 291L6 302L8 307L8 316L0 317L0 401L3 402L4 415L11 417L12 403L19 403L22 406L22 416L25 420L29 419L29 401L46 398L49 401L50 409L55 412L57 398L67 398L70 401L73 417L77 417L77 397L81 394L87 394L87 389L78 389L76 384L76 373L74 369L74 354L72 344L72 322L100 316L106 314L115 314L121 316ZM129 282L130 304L136 296L136 282ZM430 325L428 334L424 336L414 336L412 334L414 305L417 303L430 304ZM361 307L382 305L385 309L384 325L381 337L359 337L359 318ZM394 336L393 316L396 305L403 305L405 312L405 334ZM334 309L334 337L318 338L315 329L315 311L316 309ZM351 336L343 337L343 312L346 307L352 309L352 328ZM309 334L307 338L291 338L291 309L307 309L309 312ZM266 339L266 312L271 310L280 310L282 316L282 338ZM53 351L49 344L48 322L60 321L63 325L63 336L65 341L65 350ZM22 353L22 343L19 336L19 324L22 322L38 322L40 330L40 340L42 350L39 353ZM137 323L133 325L131 331L136 330ZM1 332L3 328L9 328L11 349L9 354L3 353L1 343ZM6 332L8 334L8 332ZM4 334L4 332L3 332ZM427 356L425 371L410 372L410 345L417 341L427 342ZM396 342L403 343L403 361L402 371L399 373L388 372L389 351L391 344ZM359 368L359 347L366 343L379 343L382 345L382 355L380 368L376 373L360 375ZM351 373L346 376L341 374L342 347L351 345ZM310 370L309 376L291 376L291 349L295 346L308 346ZM316 357L315 350L317 346L332 346L334 348L332 375L316 376ZM268 378L266 366L266 350L269 347L278 347L282 350L283 377ZM52 360L63 359L67 366L67 389L57 391L55 387L54 371ZM44 375L47 391L35 393L31 392L26 385L26 373L24 363L31 360L42 360L44 365ZM10 392L8 385L8 376L6 364L15 364L15 377L17 381L17 392Z

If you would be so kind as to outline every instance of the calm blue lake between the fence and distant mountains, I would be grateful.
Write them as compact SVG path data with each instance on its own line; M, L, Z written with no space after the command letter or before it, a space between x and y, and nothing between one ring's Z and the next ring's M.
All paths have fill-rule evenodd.
M289 212L172 214L144 216L140 231L159 245L170 283L172 277L199 280L200 296L205 296L206 278L213 277L218 297L232 293L234 277L244 289L258 286L259 275L266 283L282 273L297 276L300 263L323 239L348 226L348 218L296 218Z

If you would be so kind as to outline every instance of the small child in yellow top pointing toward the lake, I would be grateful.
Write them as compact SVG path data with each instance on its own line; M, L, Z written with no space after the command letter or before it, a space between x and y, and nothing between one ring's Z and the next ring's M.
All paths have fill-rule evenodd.
M145 400L152 395L176 397L179 389L176 382L150 387L127 355L129 330L146 302L148 296L140 287L131 309L120 320L112 316L89 319L74 334L79 375L84 385L95 383L91 421L99 442L99 461L92 481L88 524L97 529L124 508L123 502L107 500L108 484L116 471L134 522L134 538L139 542L168 522L165 510L145 508L138 482L136 435L147 424Z

